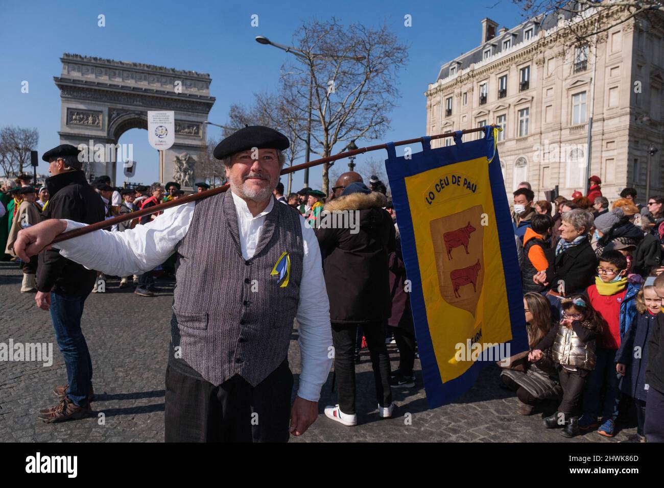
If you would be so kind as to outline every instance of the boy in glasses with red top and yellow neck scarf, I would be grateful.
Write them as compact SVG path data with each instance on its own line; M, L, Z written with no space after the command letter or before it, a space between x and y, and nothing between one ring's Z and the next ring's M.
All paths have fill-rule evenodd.
M636 311L636 295L639 285L627 281L627 258L620 251L605 251L600 256L595 284L586 290L590 306L606 324L597 343L596 367L588 377L588 388L584 393L583 416L579 420L581 430L599 426L598 433L613 437L620 389L620 374L616 372L616 353L620 341L629 328ZM600 398L605 390L602 406L602 424L598 422Z

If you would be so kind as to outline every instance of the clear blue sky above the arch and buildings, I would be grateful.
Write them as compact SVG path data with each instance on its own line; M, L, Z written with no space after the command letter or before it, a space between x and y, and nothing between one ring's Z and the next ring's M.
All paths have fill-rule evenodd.
M40 157L59 143L60 94L53 76L60 74L64 52L207 72L212 77L210 94L216 97L208 120L223 124L231 104L250 104L254 93L275 90L280 66L291 56L258 44L257 35L291 44L293 32L307 19L336 17L342 23L374 27L386 23L400 42L410 46L408 65L400 71L402 98L390 114L390 130L380 141L387 142L424 135L424 91L436 80L443 62L479 44L481 19L490 17L501 27L523 21L511 0L3 0L0 11L0 125L37 127ZM99 14L106 16L106 27L98 27ZM258 27L250 25L252 14L258 15ZM406 14L412 16L412 27L404 27ZM21 93L23 80L29 81L28 94ZM208 129L210 135L220 130ZM120 143L133 143L138 162L134 181L158 179L158 157L147 143L147 131L127 131ZM375 143L357 141L360 147ZM374 159L386 157L380 151L369 154ZM360 168L367 157L357 158ZM337 165L346 167L346 163ZM45 164L38 169L46 170ZM300 173L293 180L295 191L301 187ZM321 171L314 168L309 185L319 187L320 183Z

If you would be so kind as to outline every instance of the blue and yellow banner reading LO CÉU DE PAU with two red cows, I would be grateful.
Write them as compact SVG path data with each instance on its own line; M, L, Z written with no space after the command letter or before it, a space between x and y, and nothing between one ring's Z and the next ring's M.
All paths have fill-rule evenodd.
M396 156L385 167L430 408L481 368L528 349L514 230L495 135ZM489 360L487 360L487 358ZM497 378L496 378L497 380Z

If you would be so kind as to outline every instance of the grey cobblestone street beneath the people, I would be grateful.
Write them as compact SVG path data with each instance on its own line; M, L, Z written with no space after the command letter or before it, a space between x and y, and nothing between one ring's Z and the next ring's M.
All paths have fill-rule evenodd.
M66 383L62 355L54 340L50 314L35 306L33 293L20 293L21 274L14 263L0 263L0 343L52 343L52 366L41 362L0 362L0 441L3 442L163 442L164 374L167 363L173 282L157 281L162 291L145 298L107 282L106 293L86 301L83 331L94 369L96 400L93 418L43 424L39 409L52 406L52 388ZM293 329L289 361L299 374L297 328ZM389 346L392 369L398 352ZM615 438L588 432L566 440L557 430L545 430L542 414L523 417L515 394L498 386L498 367L483 370L477 383L454 403L428 410L419 361L416 387L392 390L394 418L379 420L369 353L357 365L359 425L337 424L322 414L334 404L332 374L323 387L318 420L291 442L620 442L635 434L635 425L622 426ZM98 414L104 414L100 425ZM412 414L412 423L404 414ZM620 426L620 425L619 425ZM629 428L627 428L629 427Z

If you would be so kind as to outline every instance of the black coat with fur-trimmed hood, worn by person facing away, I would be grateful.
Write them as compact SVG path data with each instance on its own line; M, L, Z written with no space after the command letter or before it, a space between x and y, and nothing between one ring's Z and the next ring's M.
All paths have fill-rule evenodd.
M390 317L388 255L395 248L390 214L382 193L352 193L325 205L324 211L359 210L359 232L318 228L323 272L336 323L386 321ZM321 217L321 223L325 222ZM355 230L353 230L355 232Z

